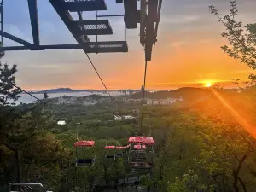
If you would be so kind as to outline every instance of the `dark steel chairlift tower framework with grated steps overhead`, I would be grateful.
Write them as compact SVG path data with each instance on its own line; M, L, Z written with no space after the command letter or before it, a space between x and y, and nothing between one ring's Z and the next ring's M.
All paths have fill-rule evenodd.
M137 0L116 0L116 3L124 5L124 15L99 15L98 11L108 9L104 0L49 0L49 3L51 3L56 13L61 17L61 20L72 33L78 44L40 44L37 0L27 0L27 3L31 20L33 43L3 31L2 0L0 4L0 57L3 57L5 51L11 50L82 49L84 53L128 52L126 29L135 29L137 28L137 23L140 23L140 42L145 49L145 59L147 61L151 60L152 47L156 43L162 0L140 0L140 10L137 10ZM77 13L79 20L74 20L71 12ZM95 19L84 19L83 12L95 12ZM124 40L98 41L98 36L100 35L113 34L113 29L108 19L101 19L102 17L108 18L113 16L124 18ZM96 41L91 42L90 36L95 36ZM4 46L3 38L9 38L21 45Z

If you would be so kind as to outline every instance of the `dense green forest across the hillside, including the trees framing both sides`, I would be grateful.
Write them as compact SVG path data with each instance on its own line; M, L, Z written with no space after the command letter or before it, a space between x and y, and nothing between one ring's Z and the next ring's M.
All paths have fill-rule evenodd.
M222 35L229 46L222 49L254 70L256 25L243 29L235 20L236 1L230 5L230 15L224 16L210 7L226 26ZM227 93L215 84L207 90L210 96L196 102L146 106L144 112L150 114L142 125L138 120L113 120L114 114L136 116L134 109L139 107L131 103L55 105L45 94L40 102L15 106L9 101L19 99L18 73L16 64L0 66L0 191L8 191L11 182L42 183L49 191L256 191L253 73L247 82L234 79L241 92ZM67 124L58 125L61 119ZM106 145L125 146L140 129L155 140L150 172L131 170L127 151L122 158L105 160ZM96 142L96 163L75 174L77 130L79 139ZM81 148L79 155L94 153ZM128 182L131 177L136 179Z

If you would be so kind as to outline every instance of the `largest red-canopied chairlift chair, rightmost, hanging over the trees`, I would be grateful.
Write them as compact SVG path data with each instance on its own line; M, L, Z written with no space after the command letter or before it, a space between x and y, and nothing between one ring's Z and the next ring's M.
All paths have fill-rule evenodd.
M133 169L150 169L154 160L154 139L153 137L129 137L128 162Z

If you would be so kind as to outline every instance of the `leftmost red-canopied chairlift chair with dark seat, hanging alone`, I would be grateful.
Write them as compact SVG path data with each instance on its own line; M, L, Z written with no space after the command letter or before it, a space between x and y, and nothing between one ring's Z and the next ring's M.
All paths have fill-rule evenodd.
M94 141L78 141L73 144L73 146L76 148L76 162L75 166L94 166L94 163L96 161L96 153L95 149L93 149L93 158L79 158L78 154L78 148L92 148L95 145Z

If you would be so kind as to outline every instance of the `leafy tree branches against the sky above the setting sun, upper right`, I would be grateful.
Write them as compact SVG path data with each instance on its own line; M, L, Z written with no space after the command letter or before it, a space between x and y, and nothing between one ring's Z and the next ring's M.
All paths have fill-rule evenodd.
M218 9L213 5L209 7L211 14L218 18L226 28L222 37L229 41L229 45L221 47L230 57L245 63L253 70L256 69L256 23L243 25L241 21L236 20L238 9L236 9L236 0L230 1L230 14L220 15ZM256 74L250 74L248 79L252 84L256 83Z

